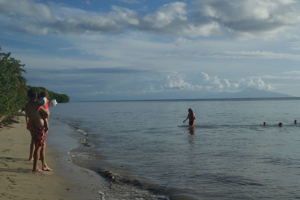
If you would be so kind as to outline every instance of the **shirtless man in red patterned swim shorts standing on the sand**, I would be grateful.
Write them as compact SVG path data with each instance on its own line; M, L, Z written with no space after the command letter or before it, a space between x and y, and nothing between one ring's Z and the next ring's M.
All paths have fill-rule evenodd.
M26 117L28 117L29 123L31 124L30 131L35 144L35 151L33 153L33 169L32 172L43 173L44 171L52 171L46 164L45 159L45 138L46 138L46 128L44 126L44 120L41 113L46 117L49 117L49 113L43 108L40 107L37 99L37 92L34 89L30 89L27 92L29 101L25 106ZM40 107L40 109L39 109ZM38 160L42 161L42 170L38 168Z

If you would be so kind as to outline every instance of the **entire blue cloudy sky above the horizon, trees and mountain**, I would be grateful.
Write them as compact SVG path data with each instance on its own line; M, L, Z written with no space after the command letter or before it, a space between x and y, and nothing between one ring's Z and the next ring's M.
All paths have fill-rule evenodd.
M70 101L300 96L298 0L0 0L2 53Z

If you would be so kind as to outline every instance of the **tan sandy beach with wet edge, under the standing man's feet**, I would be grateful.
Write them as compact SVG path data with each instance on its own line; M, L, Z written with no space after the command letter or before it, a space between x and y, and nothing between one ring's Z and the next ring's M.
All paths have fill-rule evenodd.
M59 135L70 130L57 126L54 131L59 140ZM1 123L0 137L0 199L102 198L108 182L98 173L68 163L67 150L59 152L47 143L51 131L46 138L46 163L53 171L44 173L32 173L33 161L28 160L31 137L24 116Z

